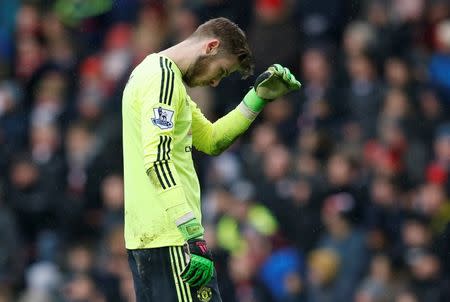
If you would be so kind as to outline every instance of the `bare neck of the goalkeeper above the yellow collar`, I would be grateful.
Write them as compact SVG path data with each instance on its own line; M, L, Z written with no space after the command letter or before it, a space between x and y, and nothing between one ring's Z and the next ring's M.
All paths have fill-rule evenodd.
M160 51L159 54L171 59L180 69L181 74L186 74L189 66L195 61L200 52L198 43L191 40L184 40L170 48Z

